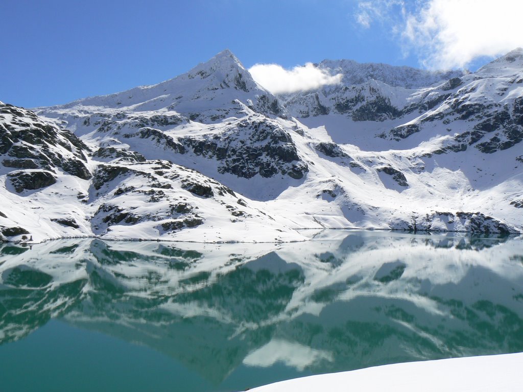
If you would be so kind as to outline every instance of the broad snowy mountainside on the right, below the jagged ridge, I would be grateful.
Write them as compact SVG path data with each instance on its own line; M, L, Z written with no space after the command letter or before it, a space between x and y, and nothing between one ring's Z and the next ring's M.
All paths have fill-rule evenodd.
M366 68L362 65L362 70ZM406 89L390 82L389 74L369 73L360 85L329 86L284 97L289 112L321 132L324 143L332 139L340 144L319 144L316 149L359 170L363 181L340 187L350 194L349 200L363 209L373 200L376 207L389 206L386 215L403 215L405 222L411 221L407 226L416 228L459 225L465 217L472 218L473 225L483 225L484 216L472 212L521 227L523 214L517 208L522 199L518 143L523 140L523 50L516 49L473 74L447 75L453 77L431 87ZM346 79L354 80L350 75ZM376 175L383 187L394 192L372 191L370 181L379 188L379 182L373 181ZM345 182L342 175L338 178ZM361 193L366 200L358 201ZM413 211L410 218L401 212L408 216L407 206ZM395 221L392 226L400 227Z

